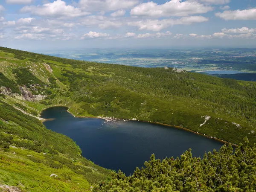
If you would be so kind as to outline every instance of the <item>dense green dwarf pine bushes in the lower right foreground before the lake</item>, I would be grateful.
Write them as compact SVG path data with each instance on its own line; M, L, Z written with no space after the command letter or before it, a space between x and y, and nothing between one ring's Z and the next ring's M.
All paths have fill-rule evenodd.
M151 160L145 168L137 168L126 177L121 171L113 172L111 179L101 181L94 192L196 192L196 191L255 191L256 147L249 147L248 140L233 153L231 145L222 146L219 152L204 154L204 158L192 157L191 149L180 158Z

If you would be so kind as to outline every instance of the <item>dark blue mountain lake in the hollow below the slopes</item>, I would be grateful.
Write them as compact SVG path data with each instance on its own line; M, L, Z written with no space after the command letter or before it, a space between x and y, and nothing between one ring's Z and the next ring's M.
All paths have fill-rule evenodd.
M76 141L84 157L108 169L121 169L126 175L133 173L136 167L141 168L153 153L160 159L176 158L192 148L193 156L203 157L205 151L218 150L223 145L216 140L164 125L73 117L64 107L48 108L41 117L55 118L44 122L44 125Z

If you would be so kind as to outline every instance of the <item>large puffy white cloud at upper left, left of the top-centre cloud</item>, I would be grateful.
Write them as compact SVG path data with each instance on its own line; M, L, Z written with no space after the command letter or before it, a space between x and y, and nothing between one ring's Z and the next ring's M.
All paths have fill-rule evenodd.
M46 3L38 6L24 6L20 12L30 13L41 17L80 17L88 15L88 12L83 12L81 9L66 5L62 0L56 0L53 3Z

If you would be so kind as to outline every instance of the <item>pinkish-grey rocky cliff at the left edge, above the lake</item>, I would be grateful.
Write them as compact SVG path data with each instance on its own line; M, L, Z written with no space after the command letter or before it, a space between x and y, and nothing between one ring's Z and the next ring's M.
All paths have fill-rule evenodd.
M15 97L16 99L26 100L26 101L41 101L46 97L41 94L33 95L26 86L20 87L21 94L12 93L12 90L8 87L0 87L0 93L7 96Z

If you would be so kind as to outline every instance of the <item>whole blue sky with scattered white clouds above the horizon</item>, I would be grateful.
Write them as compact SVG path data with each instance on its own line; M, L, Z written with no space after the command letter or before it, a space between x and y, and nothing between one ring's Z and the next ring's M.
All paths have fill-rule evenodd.
M256 47L256 0L0 0L0 46Z

